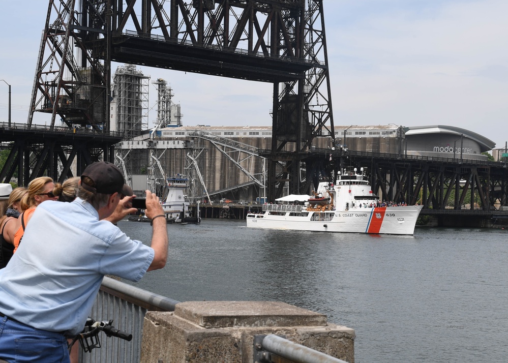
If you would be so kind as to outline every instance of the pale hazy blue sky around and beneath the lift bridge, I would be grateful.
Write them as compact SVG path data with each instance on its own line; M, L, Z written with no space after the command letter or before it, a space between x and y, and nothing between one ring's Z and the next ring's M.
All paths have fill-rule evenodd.
M448 125L504 146L508 1L323 4L336 126ZM48 1L0 0L0 6L0 79L12 87L13 122L25 123ZM171 84L185 126L272 125L269 83L156 68L142 71L151 81L160 77ZM150 92L153 107L152 84ZM0 82L0 120L7 120L7 100L8 87Z

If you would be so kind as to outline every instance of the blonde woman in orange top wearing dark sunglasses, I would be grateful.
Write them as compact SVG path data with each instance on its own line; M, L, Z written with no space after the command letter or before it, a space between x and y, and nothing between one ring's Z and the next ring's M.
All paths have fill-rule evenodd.
M19 216L15 226L14 253L18 249L26 225L30 218L32 218L35 208L46 200L58 200L58 197L53 194L54 186L53 179L49 176L40 176L28 183L27 192L23 199L21 199L23 213Z

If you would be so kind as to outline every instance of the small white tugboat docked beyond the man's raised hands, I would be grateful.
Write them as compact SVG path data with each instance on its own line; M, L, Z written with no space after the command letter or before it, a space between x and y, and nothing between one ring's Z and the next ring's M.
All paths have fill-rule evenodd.
M167 178L167 197L162 208L168 223L200 223L199 202L196 207L191 206L187 195L189 179L183 174L176 174Z

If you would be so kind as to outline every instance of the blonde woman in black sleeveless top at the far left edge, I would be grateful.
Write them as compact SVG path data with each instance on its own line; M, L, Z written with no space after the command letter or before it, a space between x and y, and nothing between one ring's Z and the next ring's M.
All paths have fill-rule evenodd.
M15 221L21 211L19 203L25 194L26 188L24 187L14 189L7 202L7 213L0 218L0 268L7 266L7 262L9 262L14 253Z

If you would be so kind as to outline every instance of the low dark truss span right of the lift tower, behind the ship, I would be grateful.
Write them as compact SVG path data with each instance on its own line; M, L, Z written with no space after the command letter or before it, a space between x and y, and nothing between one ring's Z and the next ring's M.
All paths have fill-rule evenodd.
M326 159L330 150L319 153ZM508 211L499 209L508 205L505 163L351 150L332 154L332 161L324 163L325 175L363 167L374 192L380 192L383 200L423 204L422 215L438 216L440 221L447 220L447 225L508 218Z

